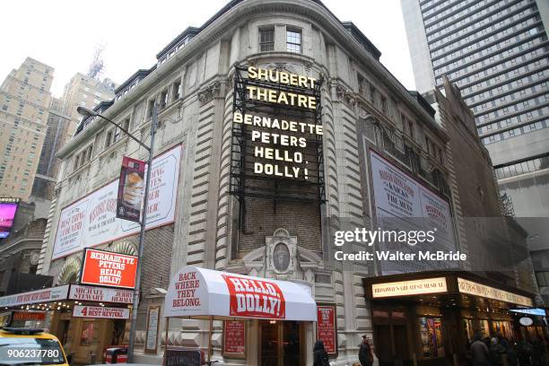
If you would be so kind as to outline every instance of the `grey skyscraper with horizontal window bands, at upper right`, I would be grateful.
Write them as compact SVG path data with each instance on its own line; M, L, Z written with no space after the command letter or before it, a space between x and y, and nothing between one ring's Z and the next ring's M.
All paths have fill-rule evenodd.
M401 4L418 91L432 97L445 75L459 88L549 301L549 3Z

